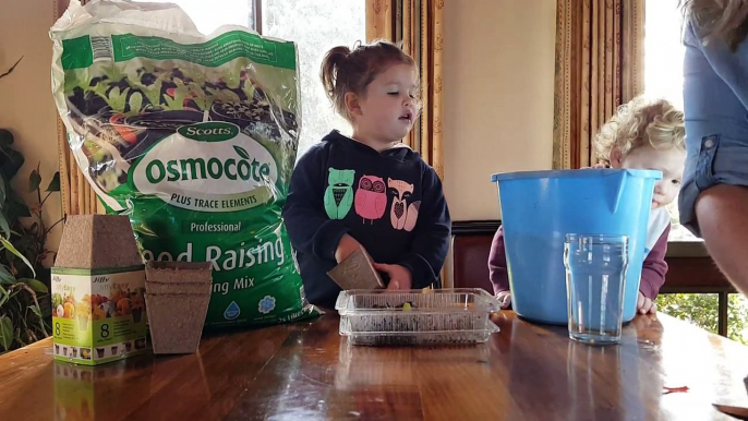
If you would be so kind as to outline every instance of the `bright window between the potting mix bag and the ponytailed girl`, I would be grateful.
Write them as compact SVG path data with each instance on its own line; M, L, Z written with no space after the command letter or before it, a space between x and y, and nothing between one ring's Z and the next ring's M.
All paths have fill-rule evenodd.
M254 28L262 16L262 35L295 41L301 85L299 155L333 129L350 134L348 122L337 116L319 81L325 52L335 46L365 41L364 0L137 0L176 3L204 34L221 25Z

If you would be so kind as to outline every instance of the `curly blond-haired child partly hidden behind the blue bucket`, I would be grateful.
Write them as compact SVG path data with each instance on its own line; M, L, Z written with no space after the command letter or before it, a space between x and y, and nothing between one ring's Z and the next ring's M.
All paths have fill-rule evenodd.
M683 112L664 99L637 97L619 107L617 113L595 136L594 147L603 163L595 167L654 169L663 172L654 185L652 211L644 249L637 310L654 313L660 287L665 282L667 234L671 218L665 206L673 202L680 188L686 159ZM504 230L498 229L488 256L491 282L503 308L511 296L504 249Z

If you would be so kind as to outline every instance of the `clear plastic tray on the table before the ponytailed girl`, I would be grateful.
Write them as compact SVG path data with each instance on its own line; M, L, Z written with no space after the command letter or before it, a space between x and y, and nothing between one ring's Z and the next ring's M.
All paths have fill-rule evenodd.
M479 344L499 330L488 318L499 303L483 289L348 290L335 309L352 345Z

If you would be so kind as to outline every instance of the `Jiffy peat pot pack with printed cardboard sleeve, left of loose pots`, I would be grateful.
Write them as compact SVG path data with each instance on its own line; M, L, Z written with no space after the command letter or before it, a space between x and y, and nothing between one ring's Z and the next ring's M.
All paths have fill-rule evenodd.
M146 348L145 268L126 216L70 216L52 268L53 352L95 365Z

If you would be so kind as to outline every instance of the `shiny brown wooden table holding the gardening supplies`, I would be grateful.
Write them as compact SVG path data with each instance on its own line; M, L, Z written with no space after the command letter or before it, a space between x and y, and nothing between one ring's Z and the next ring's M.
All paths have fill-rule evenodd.
M748 406L748 347L664 314L617 346L495 315L487 344L357 347L335 313L87 368L51 339L0 357L0 420L711 420ZM667 393L675 388L675 392Z

